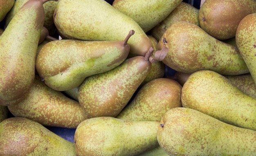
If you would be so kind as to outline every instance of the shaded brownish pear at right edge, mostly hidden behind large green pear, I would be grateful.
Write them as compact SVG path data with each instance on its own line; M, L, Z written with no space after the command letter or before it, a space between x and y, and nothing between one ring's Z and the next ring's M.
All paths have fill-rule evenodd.
M237 86L240 90L249 96L256 98L256 84L250 73L224 76L227 77L232 83L234 83L234 85Z

